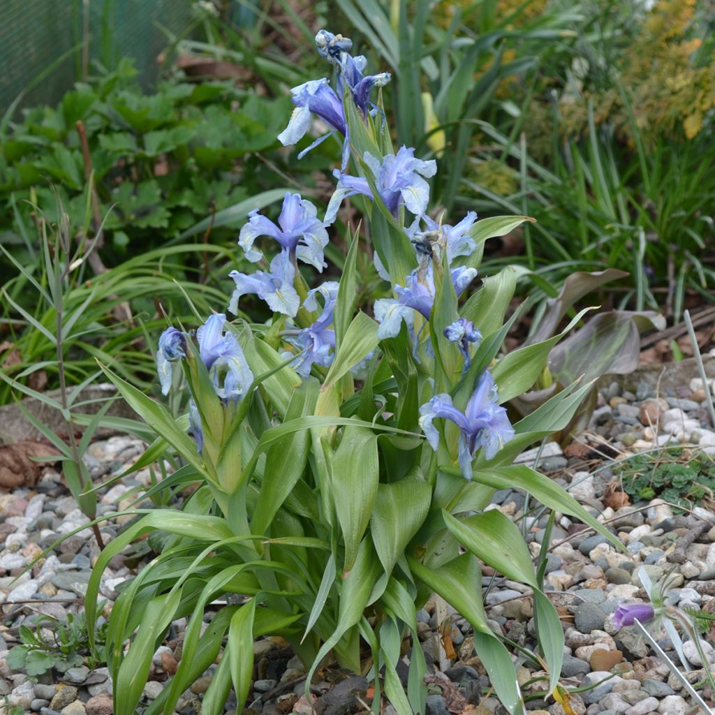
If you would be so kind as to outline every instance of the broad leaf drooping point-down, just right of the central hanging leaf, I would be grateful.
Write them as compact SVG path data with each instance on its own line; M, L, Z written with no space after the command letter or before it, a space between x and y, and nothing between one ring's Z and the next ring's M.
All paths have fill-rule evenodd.
M385 573L392 573L410 539L422 526L431 498L430 485L420 479L405 478L378 486L370 531Z

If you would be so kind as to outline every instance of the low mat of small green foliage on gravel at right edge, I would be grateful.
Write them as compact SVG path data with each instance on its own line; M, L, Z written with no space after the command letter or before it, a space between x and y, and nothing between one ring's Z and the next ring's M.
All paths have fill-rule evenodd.
M674 448L642 453L620 465L623 490L634 501L659 497L692 508L712 503L715 494L715 460L703 452Z

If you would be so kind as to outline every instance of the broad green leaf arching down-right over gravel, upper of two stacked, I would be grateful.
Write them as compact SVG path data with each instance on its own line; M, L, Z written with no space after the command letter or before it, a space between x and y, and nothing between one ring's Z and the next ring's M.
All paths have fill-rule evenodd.
M536 573L521 531L501 511L491 509L464 519L444 510L442 514L445 526L464 548L504 576L536 588Z

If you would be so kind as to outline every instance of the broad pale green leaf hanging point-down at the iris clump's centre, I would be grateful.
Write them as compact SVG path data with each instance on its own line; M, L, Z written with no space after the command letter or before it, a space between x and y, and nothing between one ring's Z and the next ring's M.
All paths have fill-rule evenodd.
M350 571L375 507L380 479L378 437L371 430L346 427L330 468L330 491L345 540L343 571Z

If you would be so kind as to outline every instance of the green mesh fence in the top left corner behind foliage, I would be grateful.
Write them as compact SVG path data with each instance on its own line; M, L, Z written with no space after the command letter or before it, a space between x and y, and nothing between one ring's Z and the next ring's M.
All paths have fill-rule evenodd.
M57 102L82 77L85 38L90 60L111 67L121 56L133 57L142 83L151 84L157 56L168 44L159 26L182 32L191 5L192 0L0 0L0 112L54 64L21 106Z

